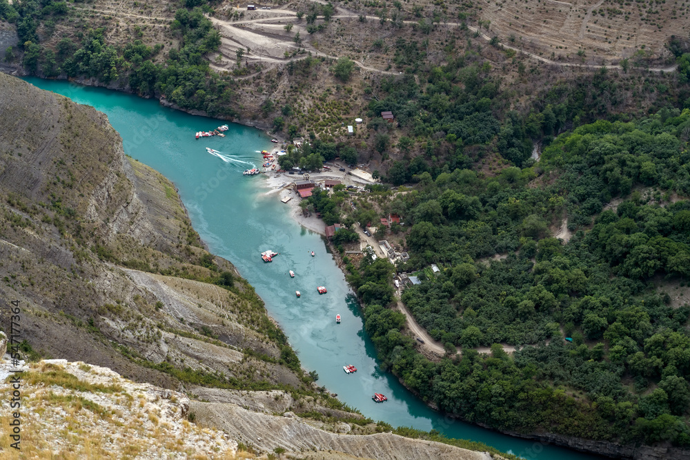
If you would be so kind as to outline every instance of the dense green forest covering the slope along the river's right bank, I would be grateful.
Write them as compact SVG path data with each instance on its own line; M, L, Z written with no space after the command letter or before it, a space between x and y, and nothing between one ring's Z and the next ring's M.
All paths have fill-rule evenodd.
M389 205L412 225L398 269L442 270L402 299L453 352L415 350L386 308L393 266L367 257L348 281L384 367L496 428L690 444L690 305L669 295L690 283L689 137L690 110L661 110L564 132L529 168L423 172ZM565 219L567 243L549 236Z

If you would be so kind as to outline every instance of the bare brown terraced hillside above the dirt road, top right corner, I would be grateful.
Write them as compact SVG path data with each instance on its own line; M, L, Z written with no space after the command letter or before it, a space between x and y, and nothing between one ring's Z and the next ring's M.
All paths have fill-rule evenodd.
M477 6L502 41L584 63L669 57L669 38L689 32L685 1L505 0Z

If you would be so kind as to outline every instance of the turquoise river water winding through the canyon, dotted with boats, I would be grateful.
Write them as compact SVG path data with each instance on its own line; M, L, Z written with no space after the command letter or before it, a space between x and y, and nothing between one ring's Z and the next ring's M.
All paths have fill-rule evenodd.
M316 370L319 385L349 406L392 426L438 430L448 437L471 439L530 460L580 460L588 454L524 441L446 419L406 390L375 360L375 350L362 328L359 306L318 234L305 230L288 214L288 207L269 193L264 176L245 177L242 171L262 160L259 152L273 146L266 134L230 124L226 137L195 139L194 133L213 130L224 122L194 117L159 106L155 100L76 86L67 81L27 78L39 88L88 104L108 115L131 157L175 182L194 228L211 252L233 262L266 302L302 366ZM206 147L221 152L208 154ZM264 263L260 252L279 255ZM310 252L315 252L311 257ZM295 272L290 278L288 270ZM317 286L328 293L319 295ZM302 293L297 299L295 290ZM335 315L342 323L335 324ZM353 364L356 374L342 366ZM386 403L371 400L374 392Z

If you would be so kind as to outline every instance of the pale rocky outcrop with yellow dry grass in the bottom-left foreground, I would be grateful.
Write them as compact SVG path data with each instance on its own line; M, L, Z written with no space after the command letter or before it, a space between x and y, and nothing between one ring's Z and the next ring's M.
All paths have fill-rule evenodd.
M0 374L9 370L0 363ZM235 458L237 443L227 434L188 421L190 401L183 393L64 359L24 371L21 450L28 458L46 451L76 458L184 459L192 452L195 458ZM5 386L0 394L9 391ZM3 401L9 398L3 394Z

